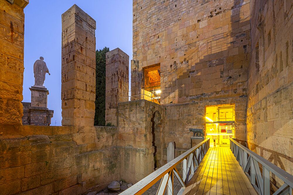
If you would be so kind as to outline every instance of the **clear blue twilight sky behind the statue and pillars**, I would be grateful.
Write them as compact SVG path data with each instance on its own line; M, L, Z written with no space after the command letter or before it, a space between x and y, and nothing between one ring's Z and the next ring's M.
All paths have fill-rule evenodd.
M48 108L54 110L51 125L60 126L61 115L61 14L76 4L96 20L96 49L119 47L132 59L132 0L30 0L25 7L23 101L30 102L34 85L33 64L44 57L51 73ZM129 60L129 62L130 62ZM131 77L130 77L131 78Z

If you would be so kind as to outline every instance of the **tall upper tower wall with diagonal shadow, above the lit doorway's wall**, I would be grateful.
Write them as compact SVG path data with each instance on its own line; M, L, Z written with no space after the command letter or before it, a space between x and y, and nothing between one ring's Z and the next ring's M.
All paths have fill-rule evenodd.
M246 94L250 1L133 1L132 95L143 68L160 63L161 100Z

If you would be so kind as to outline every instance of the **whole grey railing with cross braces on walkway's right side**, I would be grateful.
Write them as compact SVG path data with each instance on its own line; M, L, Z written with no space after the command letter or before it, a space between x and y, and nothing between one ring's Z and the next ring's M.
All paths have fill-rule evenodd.
M270 174L277 176L284 184L273 195L290 194L293 189L293 176L267 161L263 157L230 139L230 149L239 161L244 173L247 175L255 191L260 195L270 194ZM261 169L260 169L260 166ZM262 171L261 171L262 170Z

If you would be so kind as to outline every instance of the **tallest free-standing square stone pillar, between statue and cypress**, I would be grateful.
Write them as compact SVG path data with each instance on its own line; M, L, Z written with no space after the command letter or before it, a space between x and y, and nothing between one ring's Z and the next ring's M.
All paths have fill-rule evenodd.
M96 21L75 4L62 14L62 125L93 126Z

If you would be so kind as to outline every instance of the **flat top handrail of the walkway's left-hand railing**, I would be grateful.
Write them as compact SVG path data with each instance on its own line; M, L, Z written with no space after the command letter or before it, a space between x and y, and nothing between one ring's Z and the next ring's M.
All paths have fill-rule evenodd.
M128 188L127 190L123 191L123 194L142 194L147 189L149 189L153 184L155 184L159 179L162 178L163 175L166 175L168 172L176 168L178 164L180 164L184 159L186 159L191 153L195 152L199 149L203 144L209 141L210 138L205 139L204 141L200 142L193 148L189 149L188 151L184 152L180 156L176 157L169 163L163 165L161 168L157 169L156 171L149 174L147 177L144 177L142 180L134 184L132 187Z

